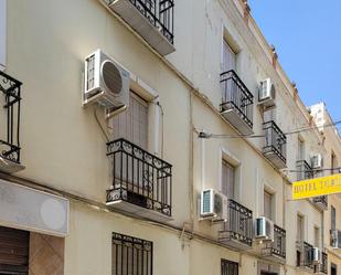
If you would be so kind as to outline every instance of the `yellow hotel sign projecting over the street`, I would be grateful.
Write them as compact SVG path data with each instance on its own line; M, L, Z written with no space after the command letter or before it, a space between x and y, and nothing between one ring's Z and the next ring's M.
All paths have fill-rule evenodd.
M341 173L292 183L292 199L301 200L341 192Z

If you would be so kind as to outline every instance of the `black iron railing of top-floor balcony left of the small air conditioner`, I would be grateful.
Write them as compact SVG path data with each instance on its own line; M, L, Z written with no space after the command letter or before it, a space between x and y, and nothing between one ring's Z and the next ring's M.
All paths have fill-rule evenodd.
M254 96L235 71L221 74L223 98L221 112L233 109L252 128Z

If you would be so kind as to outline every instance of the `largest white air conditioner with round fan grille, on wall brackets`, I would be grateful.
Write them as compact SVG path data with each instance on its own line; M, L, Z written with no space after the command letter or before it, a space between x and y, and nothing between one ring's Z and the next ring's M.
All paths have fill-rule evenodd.
M100 50L85 59L84 105L96 102L110 113L126 109L129 86L129 72Z

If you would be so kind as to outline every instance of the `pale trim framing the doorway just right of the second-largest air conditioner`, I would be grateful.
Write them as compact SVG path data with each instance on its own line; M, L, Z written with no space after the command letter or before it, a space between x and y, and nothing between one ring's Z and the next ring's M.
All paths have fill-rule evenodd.
M222 182L222 172L223 172L223 159L226 160L230 165L235 167L235 187L234 187L234 199L239 201L242 198L242 174L243 174L243 166L241 160L235 157L231 151L226 148L220 148L219 151L219 190L222 192L223 190L223 182Z

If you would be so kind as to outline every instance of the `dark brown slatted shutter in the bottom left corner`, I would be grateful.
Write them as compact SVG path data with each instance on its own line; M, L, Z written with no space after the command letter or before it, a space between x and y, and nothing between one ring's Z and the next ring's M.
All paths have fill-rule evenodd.
M29 232L0 226L0 274L28 274L29 242Z

